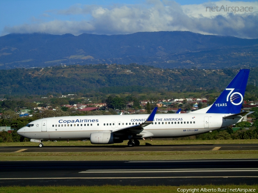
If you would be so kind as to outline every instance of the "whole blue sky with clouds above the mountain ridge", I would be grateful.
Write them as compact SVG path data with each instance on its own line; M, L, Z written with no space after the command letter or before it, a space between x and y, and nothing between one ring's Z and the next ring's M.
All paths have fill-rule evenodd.
M258 1L0 0L0 36L175 30L258 38Z

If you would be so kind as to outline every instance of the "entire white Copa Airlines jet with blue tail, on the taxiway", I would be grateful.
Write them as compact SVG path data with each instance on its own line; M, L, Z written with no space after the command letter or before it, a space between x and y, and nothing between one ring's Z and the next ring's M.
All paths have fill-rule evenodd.
M138 146L146 138L185 137L225 128L243 121L252 112L240 112L249 76L241 69L214 104L187 114L156 114L148 116L100 115L44 118L30 122L17 133L38 142L46 140L90 140L92 144L114 144L128 141Z

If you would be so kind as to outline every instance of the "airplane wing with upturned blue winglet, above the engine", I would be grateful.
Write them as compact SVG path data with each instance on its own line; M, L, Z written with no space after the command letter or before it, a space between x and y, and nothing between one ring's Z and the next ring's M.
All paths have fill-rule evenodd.
M149 124L153 123L155 114L157 112L157 107L155 107L153 109L153 111L150 113L150 115L148 116L147 120L144 123L138 124L138 125L132 125L129 127L125 127L125 128L120 128L120 129L116 129L113 130L111 133L115 133L115 134L136 134L136 135L140 135L143 136L145 138L147 137L152 137L153 134L147 131L144 131L144 127L148 126Z

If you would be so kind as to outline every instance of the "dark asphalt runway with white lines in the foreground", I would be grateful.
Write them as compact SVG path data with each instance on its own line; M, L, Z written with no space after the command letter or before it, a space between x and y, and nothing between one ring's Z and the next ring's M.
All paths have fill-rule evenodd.
M2 161L0 186L247 184L258 159L154 161Z

